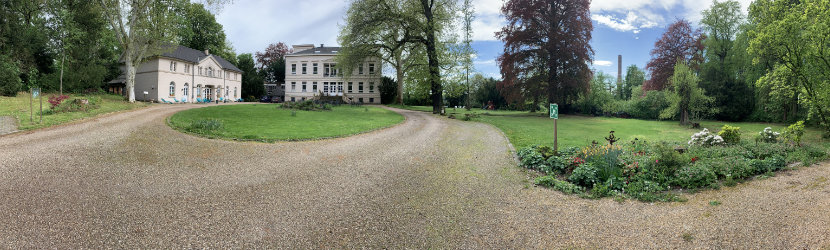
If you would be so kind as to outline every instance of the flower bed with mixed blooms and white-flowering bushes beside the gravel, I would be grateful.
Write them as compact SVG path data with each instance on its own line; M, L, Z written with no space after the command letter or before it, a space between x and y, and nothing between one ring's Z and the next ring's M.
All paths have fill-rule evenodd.
M729 127L729 133L739 133L739 129ZM766 129L759 134L772 133ZM731 186L754 176L774 175L791 163L811 165L827 157L825 148L773 138L730 143L704 129L685 145L635 139L560 152L530 146L518 155L522 167L541 174L537 185L586 198L613 196L647 202L682 200L677 195L681 191Z

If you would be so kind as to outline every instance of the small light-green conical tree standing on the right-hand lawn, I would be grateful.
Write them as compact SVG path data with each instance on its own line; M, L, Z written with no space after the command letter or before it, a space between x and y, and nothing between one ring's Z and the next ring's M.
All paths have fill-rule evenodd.
M717 109L711 107L713 99L706 96L706 92L698 87L700 79L692 69L681 60L678 60L674 68L674 74L670 78L673 90L669 97L671 105L660 113L660 118L679 116L680 125L686 125L689 124L690 117L700 119L717 113Z

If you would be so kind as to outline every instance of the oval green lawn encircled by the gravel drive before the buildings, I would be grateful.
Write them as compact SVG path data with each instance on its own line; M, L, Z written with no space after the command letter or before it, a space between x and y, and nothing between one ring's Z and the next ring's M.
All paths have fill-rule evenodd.
M331 111L296 111L278 104L241 104L185 110L174 114L169 123L179 130L224 139L261 141L308 140L343 137L390 127L403 116L378 107L335 106ZM222 128L214 131L189 130L192 122L217 119Z

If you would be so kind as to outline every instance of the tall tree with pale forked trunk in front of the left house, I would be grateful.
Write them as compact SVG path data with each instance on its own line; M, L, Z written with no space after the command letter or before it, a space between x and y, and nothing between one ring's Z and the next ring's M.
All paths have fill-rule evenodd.
M172 43L175 13L172 2L160 0L100 0L115 32L125 64L127 98L135 102L136 67Z

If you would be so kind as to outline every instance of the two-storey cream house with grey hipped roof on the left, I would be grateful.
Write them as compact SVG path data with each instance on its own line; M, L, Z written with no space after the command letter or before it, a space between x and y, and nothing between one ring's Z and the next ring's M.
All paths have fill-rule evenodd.
M121 67L122 72L125 70ZM125 94L124 75L109 91ZM146 93L146 94L145 94ZM184 46L142 63L136 69L135 98L156 102L235 101L242 94L242 70L210 51Z

